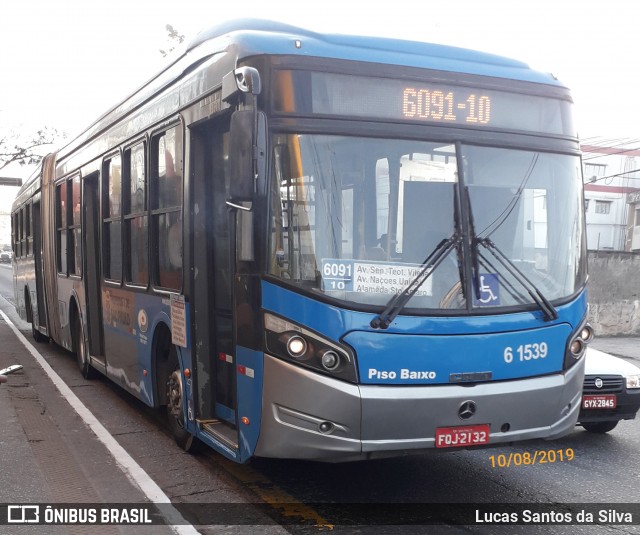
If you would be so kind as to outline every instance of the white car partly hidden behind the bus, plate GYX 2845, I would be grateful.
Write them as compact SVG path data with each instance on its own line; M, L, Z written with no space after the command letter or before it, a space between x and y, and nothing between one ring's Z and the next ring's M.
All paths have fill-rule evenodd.
M578 424L591 433L607 433L620 420L633 420L640 408L640 368L588 348Z

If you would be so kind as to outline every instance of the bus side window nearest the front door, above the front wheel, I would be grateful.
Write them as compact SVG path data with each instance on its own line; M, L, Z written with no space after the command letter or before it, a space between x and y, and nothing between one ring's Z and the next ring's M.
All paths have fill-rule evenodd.
M154 282L182 287L182 129L180 125L152 140L151 218Z

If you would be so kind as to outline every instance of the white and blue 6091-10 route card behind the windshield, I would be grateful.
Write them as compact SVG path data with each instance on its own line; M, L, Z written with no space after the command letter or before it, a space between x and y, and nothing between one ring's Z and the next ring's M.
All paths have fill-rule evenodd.
M422 268L420 264L323 259L322 289L326 292L391 296L401 293L418 276ZM427 279L415 295L432 295L431 279Z

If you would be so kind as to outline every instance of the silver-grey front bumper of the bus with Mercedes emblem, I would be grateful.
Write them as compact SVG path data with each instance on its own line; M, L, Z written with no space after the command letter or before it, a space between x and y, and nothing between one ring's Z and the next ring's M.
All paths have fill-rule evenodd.
M488 424L489 446L574 430L584 359L564 374L477 385L353 385L265 355L255 455L351 461L435 448L438 427ZM475 414L459 417L473 401Z

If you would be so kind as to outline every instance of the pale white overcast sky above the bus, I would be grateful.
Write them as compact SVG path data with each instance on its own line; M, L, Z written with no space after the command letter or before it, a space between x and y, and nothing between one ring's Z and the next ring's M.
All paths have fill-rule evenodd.
M640 138L639 15L635 0L4 0L0 129L73 137L162 65L166 24L190 37L254 17L513 57L570 87L581 137Z

